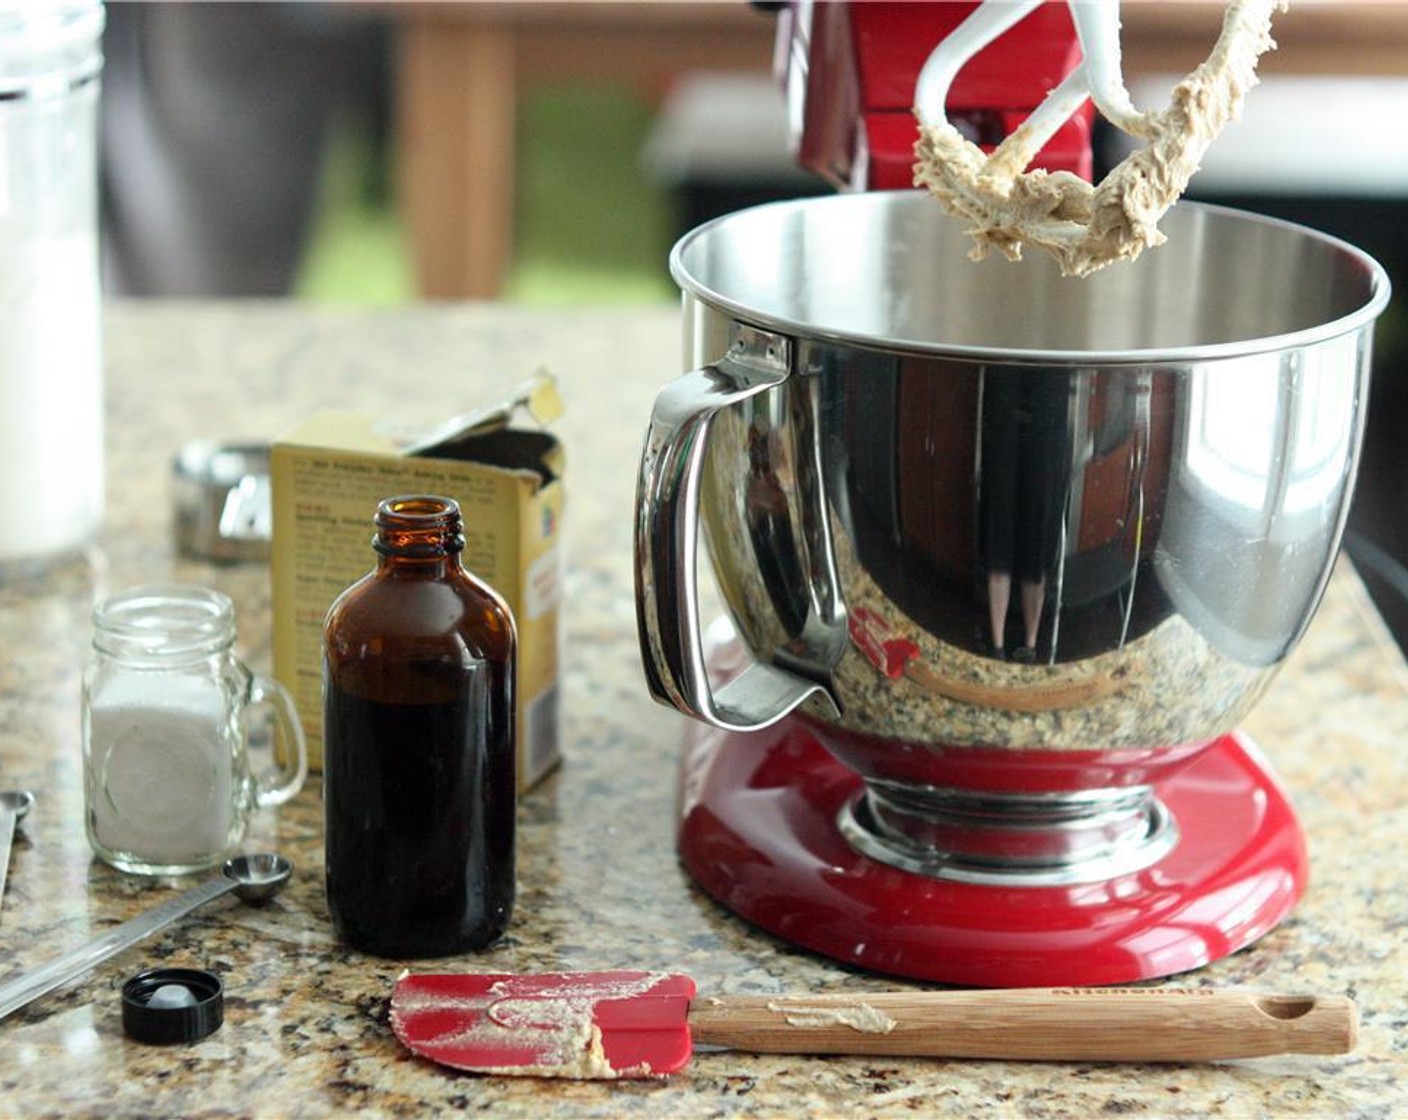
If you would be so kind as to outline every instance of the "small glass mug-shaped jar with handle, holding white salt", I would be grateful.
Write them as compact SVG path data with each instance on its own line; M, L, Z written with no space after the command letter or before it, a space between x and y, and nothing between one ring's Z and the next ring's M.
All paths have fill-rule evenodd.
M289 693L235 655L234 604L204 587L137 587L93 613L83 678L87 835L122 871L179 875L234 852L249 813L303 786L307 749ZM256 775L249 721L266 707L283 765Z

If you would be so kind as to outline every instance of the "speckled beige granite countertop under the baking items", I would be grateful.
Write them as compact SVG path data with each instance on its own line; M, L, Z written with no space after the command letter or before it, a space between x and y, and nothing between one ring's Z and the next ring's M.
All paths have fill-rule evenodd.
M490 306L346 313L287 304L118 304L108 313L108 511L99 548L0 586L0 788L30 788L0 913L0 979L187 883L96 862L83 837L79 678L94 596L152 580L230 593L239 649L269 669L263 565L176 556L169 462L186 440L266 440L322 407L441 420L535 368L567 414L566 762L521 804L520 892L474 971L674 968L705 992L903 986L758 933L693 888L673 852L681 717L646 696L631 595L639 435L676 369L677 310ZM10 511L11 516L14 511ZM215 903L0 1023L6 1116L1388 1116L1408 1112L1408 692L1340 568L1246 730L1305 826L1311 888L1260 942L1194 985L1349 993L1354 1054L1212 1065L956 1062L705 1054L662 1082L474 1078L421 1062L387 1026L403 965L332 938L317 782L256 814L246 850L293 858L262 909ZM225 1024L193 1045L122 1037L118 989L155 964L211 968Z

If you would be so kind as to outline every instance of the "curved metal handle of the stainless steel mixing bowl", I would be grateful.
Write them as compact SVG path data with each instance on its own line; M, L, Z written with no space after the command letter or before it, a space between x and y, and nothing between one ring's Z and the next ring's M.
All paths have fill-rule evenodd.
M666 385L655 399L635 506L635 602L650 695L729 731L756 731L826 689L758 661L717 692L698 609L698 506L710 428L719 410L781 385L790 341L735 328L728 354Z

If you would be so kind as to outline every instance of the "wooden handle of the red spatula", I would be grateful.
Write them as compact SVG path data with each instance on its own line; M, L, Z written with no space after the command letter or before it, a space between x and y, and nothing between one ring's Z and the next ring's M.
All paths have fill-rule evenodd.
M1347 1054L1346 996L1239 989L1052 988L698 996L697 1043L774 1054L1183 1062Z

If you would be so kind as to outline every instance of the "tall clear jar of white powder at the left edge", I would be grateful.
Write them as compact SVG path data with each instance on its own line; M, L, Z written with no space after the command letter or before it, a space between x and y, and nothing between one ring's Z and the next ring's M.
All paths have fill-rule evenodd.
M0 580L103 520L97 0L0 0Z

